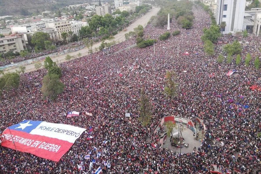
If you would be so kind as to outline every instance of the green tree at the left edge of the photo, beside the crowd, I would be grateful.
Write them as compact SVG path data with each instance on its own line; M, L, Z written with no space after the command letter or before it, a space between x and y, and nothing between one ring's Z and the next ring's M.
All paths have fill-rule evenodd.
M17 89L20 82L20 75L18 73L6 73L0 78L0 94L3 90L8 92L12 89Z

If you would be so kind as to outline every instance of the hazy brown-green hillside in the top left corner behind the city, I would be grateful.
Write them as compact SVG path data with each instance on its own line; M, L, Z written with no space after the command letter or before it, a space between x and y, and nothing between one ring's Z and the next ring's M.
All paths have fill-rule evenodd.
M86 0L0 0L0 16L4 15L27 15L28 12L42 12L45 10L55 11L58 8L86 3Z

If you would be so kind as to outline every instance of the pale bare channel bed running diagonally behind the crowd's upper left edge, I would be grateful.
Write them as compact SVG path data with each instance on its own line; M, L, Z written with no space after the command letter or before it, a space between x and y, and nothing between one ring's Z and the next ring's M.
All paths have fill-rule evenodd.
M153 8L151 9L148 13L146 13L144 16L142 16L141 18L137 19L135 22L133 22L131 25L129 25L127 28L124 28L124 30L122 30L121 32L119 32L117 35L114 36L114 39L111 40L106 40L105 42L111 42L111 41L116 41L116 42L122 42L125 40L125 33L133 31L134 28L136 28L138 25L142 25L143 27L145 27L148 23L148 21L150 20L150 18L152 16L155 16L157 14L157 12L160 10L160 8ZM101 42L93 44L93 50L95 50L95 48L98 48L100 46ZM79 51L75 51L75 52L71 52L70 55L72 56L76 56L78 53L81 53L82 56L87 55L88 54L88 49L84 48L81 49ZM52 57L53 61L58 61L60 62L64 62L65 60L65 56L66 55L60 55L57 57ZM43 64L44 61L38 61L41 62ZM36 62L36 63L38 63ZM15 70L18 70L18 68L14 67L8 70L5 70L4 72L15 72ZM35 70L35 63L26 65L26 72L30 72Z

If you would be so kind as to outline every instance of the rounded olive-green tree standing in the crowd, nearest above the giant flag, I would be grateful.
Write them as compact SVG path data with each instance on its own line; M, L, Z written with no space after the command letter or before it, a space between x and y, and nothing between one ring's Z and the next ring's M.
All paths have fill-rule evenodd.
M50 98L52 101L56 100L58 95L64 92L65 85L60 82L57 74L50 74L44 76L43 86L41 88L43 98Z

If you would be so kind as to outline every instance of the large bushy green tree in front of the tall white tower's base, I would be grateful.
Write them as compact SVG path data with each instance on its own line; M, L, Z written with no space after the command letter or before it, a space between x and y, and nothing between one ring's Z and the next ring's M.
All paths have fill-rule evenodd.
M220 29L218 26L210 26L209 29L204 28L203 29L204 35L202 35L201 39L203 41L210 40L213 43L216 43L218 41L218 37L221 36Z

